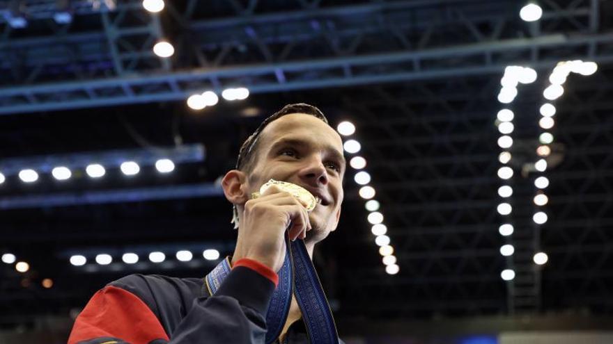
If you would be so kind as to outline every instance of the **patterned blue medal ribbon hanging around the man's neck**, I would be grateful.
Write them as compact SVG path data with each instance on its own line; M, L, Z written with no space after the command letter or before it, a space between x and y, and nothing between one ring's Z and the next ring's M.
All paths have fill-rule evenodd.
M222 284L232 268L228 258L217 264L205 277L211 295ZM266 314L266 343L279 338L290 310L292 293L296 296L309 341L317 344L339 344L334 317L321 287L319 277L302 239L290 242L286 232L286 255Z

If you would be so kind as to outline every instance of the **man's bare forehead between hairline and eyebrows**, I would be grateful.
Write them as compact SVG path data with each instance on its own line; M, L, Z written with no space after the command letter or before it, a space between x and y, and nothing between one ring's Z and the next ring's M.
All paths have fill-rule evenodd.
M325 145L332 145L343 151L343 140L334 129L323 120L304 113L292 113L272 121L263 129L261 136L264 147L281 138L299 137L313 142L325 142Z

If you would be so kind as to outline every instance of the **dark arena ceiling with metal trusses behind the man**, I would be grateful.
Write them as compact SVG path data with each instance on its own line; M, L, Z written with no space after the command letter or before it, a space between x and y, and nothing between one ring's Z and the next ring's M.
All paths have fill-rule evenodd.
M385 272L349 169L341 224L315 257L337 318L612 313L612 1L543 0L534 23L515 0L186 0L160 15L141 1L70 1L70 24L54 21L55 1L21 1L25 28L10 24L13 2L0 8L0 249L31 269L0 265L2 327L68 316L126 274L203 276L214 262L199 252L231 254L235 240L219 177L265 115L303 101L334 126L355 124L400 267ZM151 51L161 38L171 58ZM575 59L598 72L570 76L555 101L549 219L537 227L538 108L553 67ZM538 72L512 104L510 258L499 253L511 239L498 231L509 219L497 213L495 126L507 65ZM248 99L185 104L239 85ZM153 167L164 154L170 174ZM122 158L141 159L141 172L125 177ZM108 163L99 180L84 172L95 159ZM45 170L56 161L76 166L71 179ZM36 183L17 178L28 165L42 171ZM178 249L196 259L176 261ZM169 259L119 258L154 250ZM537 250L549 256L542 267ZM102 252L116 263L68 262ZM503 281L509 267L516 278Z

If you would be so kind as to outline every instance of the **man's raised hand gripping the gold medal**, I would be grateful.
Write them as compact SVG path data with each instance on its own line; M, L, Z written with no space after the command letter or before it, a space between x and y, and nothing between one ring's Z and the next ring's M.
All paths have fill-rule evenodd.
M270 186L260 197L245 202L233 261L254 259L279 271L286 254L286 229L291 224L290 240L304 239L311 230L306 206L277 186Z

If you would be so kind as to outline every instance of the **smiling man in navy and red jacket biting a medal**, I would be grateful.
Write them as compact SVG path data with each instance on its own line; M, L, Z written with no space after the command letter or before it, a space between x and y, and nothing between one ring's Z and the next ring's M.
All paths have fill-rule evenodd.
M345 169L343 142L323 113L307 104L285 106L245 141L236 170L222 180L234 205L238 239L231 271L219 288L210 290L203 279L124 277L92 297L68 343L265 343L268 307L277 272L289 256L288 239L304 240L312 259L315 244L339 223ZM251 199L270 179L302 186L320 202L307 213L301 201L276 186ZM286 305L275 343L309 343L303 321L308 314L295 296ZM308 333L316 335L313 329Z

